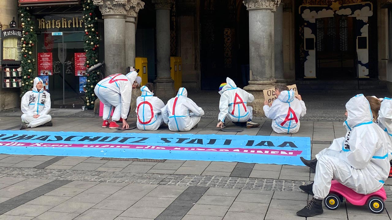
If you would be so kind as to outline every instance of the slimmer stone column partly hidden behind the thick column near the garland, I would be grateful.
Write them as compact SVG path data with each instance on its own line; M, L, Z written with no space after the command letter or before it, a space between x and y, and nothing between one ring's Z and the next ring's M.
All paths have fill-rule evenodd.
M136 17L139 10L144 8L144 2L141 0L128 0L125 9L127 16L125 17L125 66L135 66L135 34L136 34Z

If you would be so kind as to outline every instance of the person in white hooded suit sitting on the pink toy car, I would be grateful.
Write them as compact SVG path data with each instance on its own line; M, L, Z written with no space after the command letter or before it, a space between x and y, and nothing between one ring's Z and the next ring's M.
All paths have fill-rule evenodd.
M389 140L386 133L373 123L369 102L360 94L347 102L346 109L346 137L335 139L331 149L324 149L316 155L314 182L300 186L313 195L313 199L297 212L298 216L323 213L322 200L329 193L332 179L367 195L381 189L388 178Z

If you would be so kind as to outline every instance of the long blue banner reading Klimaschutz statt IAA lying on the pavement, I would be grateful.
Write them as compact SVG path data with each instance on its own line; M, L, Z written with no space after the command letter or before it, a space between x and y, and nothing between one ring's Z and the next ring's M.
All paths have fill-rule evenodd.
M304 166L310 137L0 131L0 153Z

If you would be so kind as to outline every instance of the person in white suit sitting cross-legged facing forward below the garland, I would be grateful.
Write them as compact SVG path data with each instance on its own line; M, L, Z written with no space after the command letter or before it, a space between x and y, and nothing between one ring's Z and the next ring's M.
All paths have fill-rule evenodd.
M23 112L20 130L35 128L36 126L53 126L52 116L49 115L51 108L50 94L44 91L44 81L34 78L33 90L27 91L20 103Z

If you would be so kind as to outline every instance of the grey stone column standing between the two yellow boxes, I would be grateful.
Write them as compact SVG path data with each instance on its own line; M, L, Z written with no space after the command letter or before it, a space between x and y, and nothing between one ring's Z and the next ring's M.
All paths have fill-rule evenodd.
M156 10L156 96L169 99L175 95L170 76L170 8L174 0L152 0Z

